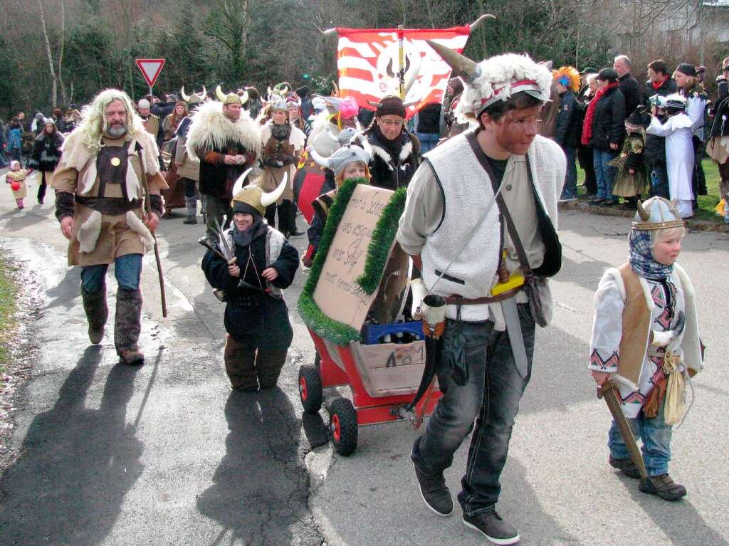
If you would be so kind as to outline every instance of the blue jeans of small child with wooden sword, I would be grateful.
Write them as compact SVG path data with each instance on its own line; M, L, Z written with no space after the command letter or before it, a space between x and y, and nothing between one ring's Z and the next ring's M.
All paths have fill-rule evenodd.
M636 440L641 440L641 451L643 452L643 462L649 476L658 476L668 472L668 461L671 461L671 425L667 425L663 421L663 410L666 406L666 400L658 410L655 418L649 419L639 413L634 419L628 419L633 430ZM607 437L607 447L610 448L610 455L613 459L630 459L631 454L625 447L623 437L617 429L617 424L612 421L610 432Z

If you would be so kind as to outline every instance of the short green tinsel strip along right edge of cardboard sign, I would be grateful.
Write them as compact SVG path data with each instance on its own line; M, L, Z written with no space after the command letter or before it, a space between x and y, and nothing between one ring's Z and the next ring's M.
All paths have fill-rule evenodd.
M397 235L397 227L402 211L405 210L405 197L407 195L408 190L405 190L404 187L395 191L385 208L382 209L382 214L372 232L370 246L367 247L367 260L364 262L364 271L356 279L356 283L367 295L374 294L380 286L382 274L390 257L390 246L392 246L392 241Z

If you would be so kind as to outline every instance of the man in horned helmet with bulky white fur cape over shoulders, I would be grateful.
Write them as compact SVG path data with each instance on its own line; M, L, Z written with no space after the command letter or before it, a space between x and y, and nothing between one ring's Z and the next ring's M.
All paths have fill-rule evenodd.
M233 186L238 176L256 163L260 153L261 131L243 104L248 95L215 90L218 101L200 106L187 133L187 153L200 160L200 193L206 195L208 237L217 241L215 224L230 225L233 212ZM225 219L225 224L223 218Z

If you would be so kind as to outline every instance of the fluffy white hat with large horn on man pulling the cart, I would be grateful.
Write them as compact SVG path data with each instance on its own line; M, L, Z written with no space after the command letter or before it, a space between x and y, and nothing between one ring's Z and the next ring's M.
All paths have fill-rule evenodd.
M542 104L549 101L552 72L532 61L529 55L505 53L476 63L442 44L427 42L451 65L453 75L464 82L463 95L456 106L460 122L473 122L491 104L507 101L522 91Z

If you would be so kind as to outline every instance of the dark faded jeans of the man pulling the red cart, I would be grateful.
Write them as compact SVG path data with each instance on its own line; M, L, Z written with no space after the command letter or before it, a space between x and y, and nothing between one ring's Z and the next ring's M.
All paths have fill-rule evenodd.
M499 477L506 463L514 419L531 377L534 321L529 305L519 304L518 308L529 362L526 378L521 378L516 369L507 332L496 332L492 321L448 319L437 370L443 397L425 432L413 445L413 461L418 468L426 474L440 475L453 464L453 453L476 420L466 473L461 480L463 491L458 496L467 515L493 510L499 500ZM460 337L460 343L454 343L456 337ZM459 350L464 351L467 362L468 378L464 386L453 381L448 364Z

